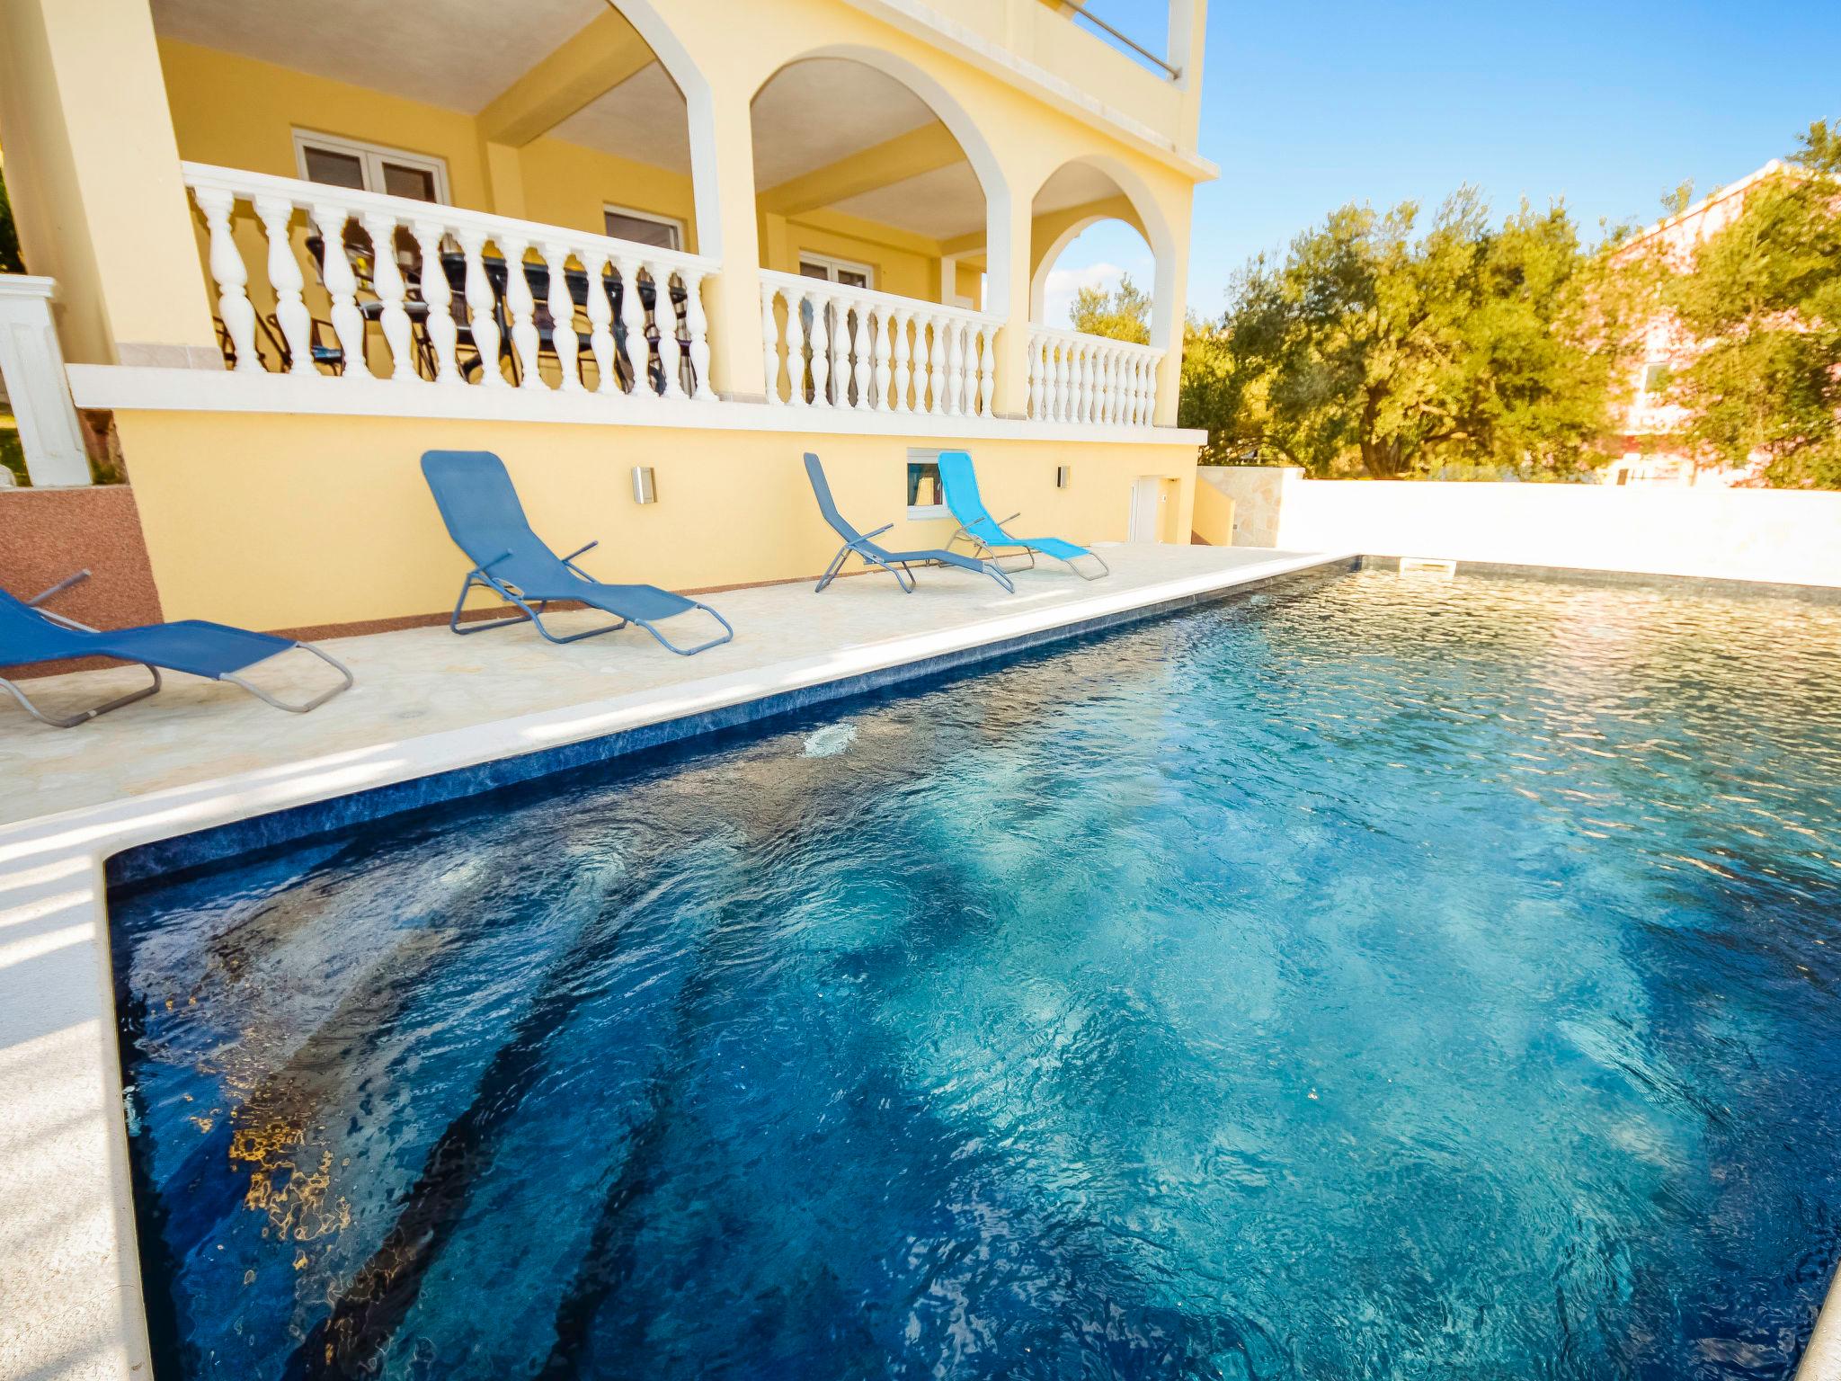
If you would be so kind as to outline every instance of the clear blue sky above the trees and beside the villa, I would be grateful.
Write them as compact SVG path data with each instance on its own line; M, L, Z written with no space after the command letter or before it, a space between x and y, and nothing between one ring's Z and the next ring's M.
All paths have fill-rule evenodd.
M1162 52L1165 0L1086 0ZM1475 182L1499 210L1565 197L1650 219L1683 179L1710 190L1841 116L1841 0L1213 0L1189 306L1348 201L1436 204ZM1049 313L1081 282L1151 254L1094 226L1057 263ZM1055 289L1060 291L1055 291Z

